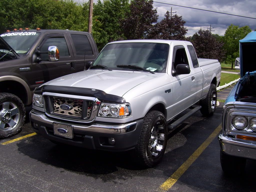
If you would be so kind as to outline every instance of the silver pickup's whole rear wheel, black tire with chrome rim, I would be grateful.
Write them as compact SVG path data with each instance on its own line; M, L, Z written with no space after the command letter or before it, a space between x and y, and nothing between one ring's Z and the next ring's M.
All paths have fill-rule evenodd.
M217 90L215 84L210 85L207 97L200 101L201 113L205 116L213 115L217 104Z

